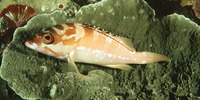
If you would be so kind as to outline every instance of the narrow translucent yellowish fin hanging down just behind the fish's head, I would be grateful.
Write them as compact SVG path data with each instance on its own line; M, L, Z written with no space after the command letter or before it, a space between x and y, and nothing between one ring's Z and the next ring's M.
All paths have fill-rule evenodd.
M72 57L70 56L70 53L68 53L68 65L69 65L69 71L71 72L75 72L78 74L79 77L84 78L85 75L81 74L76 66L76 64L74 63Z

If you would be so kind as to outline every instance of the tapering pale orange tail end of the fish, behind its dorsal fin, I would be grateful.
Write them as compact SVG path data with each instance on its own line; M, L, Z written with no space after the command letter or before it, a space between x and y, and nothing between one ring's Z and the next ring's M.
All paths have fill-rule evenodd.
M170 61L168 57L153 52L136 52L134 54L133 60L134 64L147 64L159 61Z

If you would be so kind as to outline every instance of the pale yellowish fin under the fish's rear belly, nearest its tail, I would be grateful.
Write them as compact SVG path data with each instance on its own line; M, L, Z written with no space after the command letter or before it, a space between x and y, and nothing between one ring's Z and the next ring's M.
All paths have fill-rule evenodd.
M117 65L102 65L105 67L110 67L110 68L117 68L117 69L123 69L123 70L130 70L132 69L132 66L127 65L127 64L117 64Z

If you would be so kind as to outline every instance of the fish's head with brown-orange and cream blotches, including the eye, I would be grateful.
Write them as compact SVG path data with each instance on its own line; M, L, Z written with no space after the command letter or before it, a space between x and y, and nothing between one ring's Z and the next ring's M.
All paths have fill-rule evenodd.
M63 24L39 31L25 45L40 53L64 59L77 47L81 40L79 38L75 28Z

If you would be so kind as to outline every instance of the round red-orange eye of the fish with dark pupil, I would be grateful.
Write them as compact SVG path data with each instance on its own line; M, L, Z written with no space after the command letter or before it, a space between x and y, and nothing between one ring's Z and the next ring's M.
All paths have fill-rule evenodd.
M54 42L54 37L51 33L46 33L42 35L42 42L44 44L51 44Z

